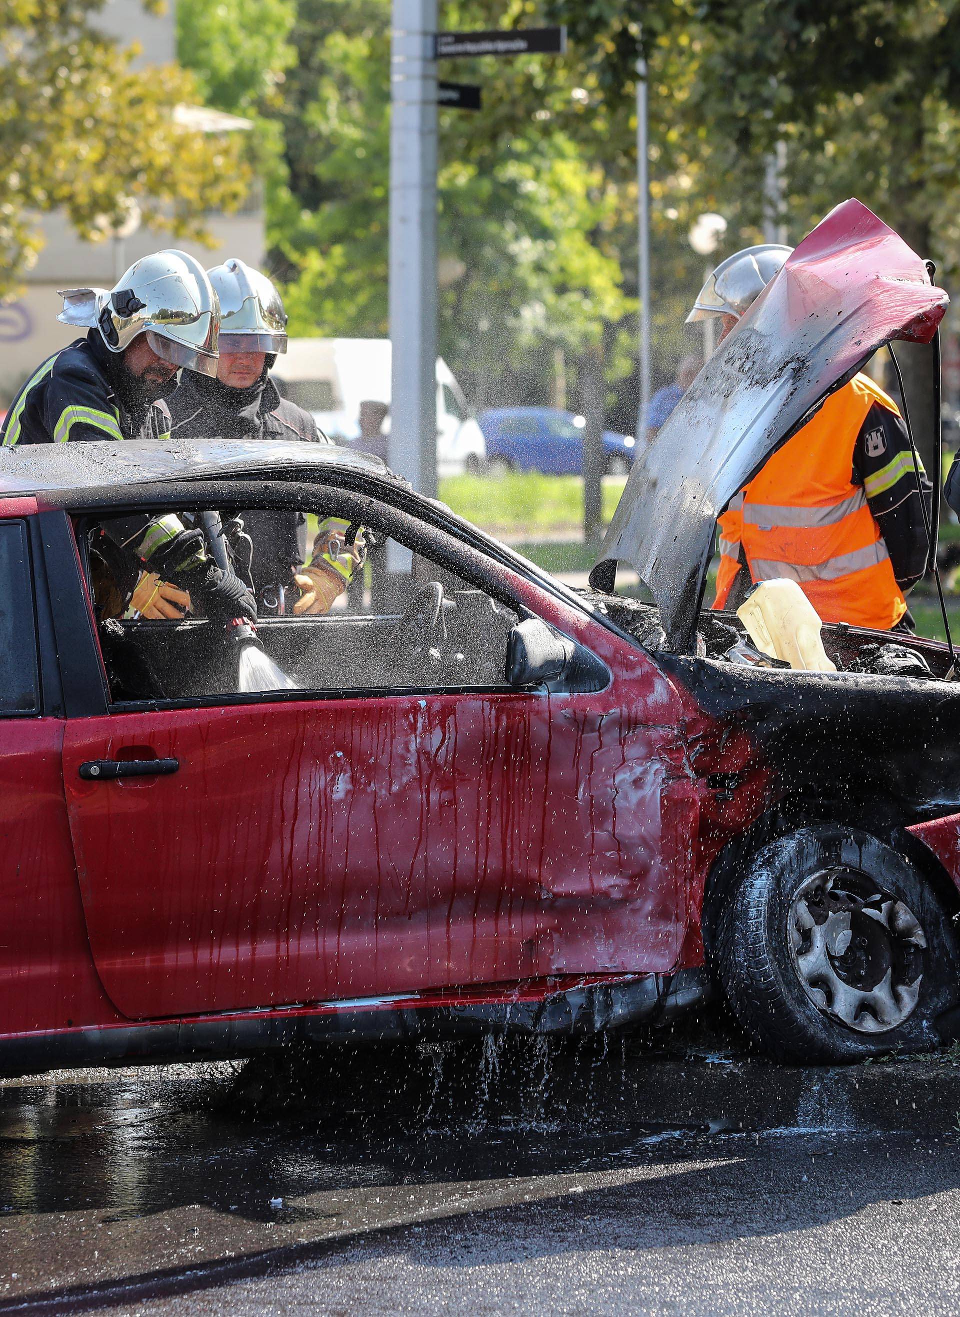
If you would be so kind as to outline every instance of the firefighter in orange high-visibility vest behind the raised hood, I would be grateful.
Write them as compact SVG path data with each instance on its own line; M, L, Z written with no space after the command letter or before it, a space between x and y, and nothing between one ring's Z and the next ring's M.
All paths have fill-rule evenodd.
M716 316L720 341L791 249L764 244L723 261L687 321ZM910 626L905 595L923 576L927 536L906 425L892 398L857 374L832 392L731 499L719 519L714 608L735 608L755 581L797 581L824 622Z

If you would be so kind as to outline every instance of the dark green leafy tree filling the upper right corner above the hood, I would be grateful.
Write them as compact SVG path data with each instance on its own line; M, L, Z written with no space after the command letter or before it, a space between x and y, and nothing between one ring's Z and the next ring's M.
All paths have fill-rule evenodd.
M553 11L595 51L604 99L623 104L640 38L624 7L557 0ZM677 54L697 67L685 96L657 96L653 112L676 117L695 158L689 195L731 220L728 249L759 238L765 162L782 144L790 241L853 195L947 275L960 270L956 0L651 0L643 40L654 82ZM930 356L898 354L930 456Z

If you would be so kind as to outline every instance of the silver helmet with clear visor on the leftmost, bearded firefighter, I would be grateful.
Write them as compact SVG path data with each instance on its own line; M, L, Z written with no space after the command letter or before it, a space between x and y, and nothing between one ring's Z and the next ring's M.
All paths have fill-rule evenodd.
M124 352L145 333L163 361L216 375L220 303L207 271L192 255L175 250L144 255L107 298L92 300L99 304L93 323L111 352ZM58 319L66 311L65 306Z

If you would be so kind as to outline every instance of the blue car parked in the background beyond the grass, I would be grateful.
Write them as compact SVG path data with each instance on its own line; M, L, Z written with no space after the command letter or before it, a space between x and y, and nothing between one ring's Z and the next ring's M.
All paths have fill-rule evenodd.
M491 407L477 417L487 446L487 469L544 471L547 475L583 473L586 421L556 407ZM606 471L626 475L636 454L632 435L603 432Z

